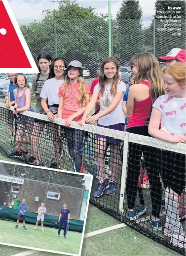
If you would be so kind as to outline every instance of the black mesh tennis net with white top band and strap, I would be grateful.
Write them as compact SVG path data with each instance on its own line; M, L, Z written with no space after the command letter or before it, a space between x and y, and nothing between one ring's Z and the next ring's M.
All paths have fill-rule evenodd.
M93 174L91 204L185 255L185 145L75 122L66 128L63 119L29 111L15 118L3 103L0 119L1 154Z

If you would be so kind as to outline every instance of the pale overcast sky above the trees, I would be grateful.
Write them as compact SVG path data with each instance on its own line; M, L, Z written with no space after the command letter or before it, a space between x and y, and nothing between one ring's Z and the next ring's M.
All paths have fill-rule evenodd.
M108 0L80 0L77 1L80 6L95 8L97 13L108 13ZM121 6L122 1L112 0L111 1L111 12L115 18L116 13ZM154 15L154 3L155 0L140 0L143 10L143 24L145 27L149 26L150 19ZM42 19L42 11L44 9L57 9L58 2L51 0L11 0L9 1L10 7L15 15L16 19Z

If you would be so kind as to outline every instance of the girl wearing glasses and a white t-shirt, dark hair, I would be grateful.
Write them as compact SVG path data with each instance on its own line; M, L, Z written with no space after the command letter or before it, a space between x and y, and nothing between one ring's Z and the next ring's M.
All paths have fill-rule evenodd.
M48 79L41 90L41 106L45 113L48 116L48 119L51 122L54 122L54 117L57 116L58 107L59 107L59 88L60 85L64 84L64 68L67 68L67 61L64 58L57 57L53 60L51 65L51 75L52 78ZM47 104L48 103L48 104ZM51 164L51 168L57 168L57 158L59 156L59 136L58 129L55 129L53 125L51 126L53 129L52 134L54 136L55 148L57 153L55 154L55 158L53 163ZM54 130L55 129L55 130Z

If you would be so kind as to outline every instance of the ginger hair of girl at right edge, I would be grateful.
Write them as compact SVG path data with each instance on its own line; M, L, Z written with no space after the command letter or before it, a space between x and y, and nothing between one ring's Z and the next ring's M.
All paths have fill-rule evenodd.
M163 69L163 74L170 74L180 87L186 87L186 63L178 62Z

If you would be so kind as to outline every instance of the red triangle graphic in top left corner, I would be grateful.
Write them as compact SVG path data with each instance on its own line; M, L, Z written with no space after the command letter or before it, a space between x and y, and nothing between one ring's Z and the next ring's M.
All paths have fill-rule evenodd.
M6 8L0 0L0 68L31 67Z

